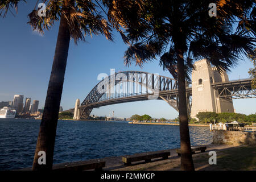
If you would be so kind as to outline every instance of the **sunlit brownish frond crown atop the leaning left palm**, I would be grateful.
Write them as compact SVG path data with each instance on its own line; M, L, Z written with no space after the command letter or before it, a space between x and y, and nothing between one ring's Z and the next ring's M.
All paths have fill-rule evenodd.
M85 41L85 36L88 34L90 36L102 34L106 39L113 41L110 24L97 11L92 1L77 0L75 4L69 4L67 7L63 7L63 1L60 0L48 1L46 16L38 16L38 10L33 10L28 14L30 19L28 24L43 34L43 30L49 30L60 19L61 14L64 14L67 20L69 32L75 44L79 40Z

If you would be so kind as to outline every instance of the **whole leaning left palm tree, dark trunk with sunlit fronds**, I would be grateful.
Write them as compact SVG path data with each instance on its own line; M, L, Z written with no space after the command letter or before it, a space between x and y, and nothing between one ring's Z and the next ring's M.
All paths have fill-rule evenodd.
M5 16L11 7L18 6L17 0L6 0L0 2L1 14ZM49 30L53 23L60 19L59 33L53 58L51 77L44 105L42 122L40 125L38 141L32 169L49 170L52 168L53 151L56 136L57 119L60 108L61 94L65 68L68 58L69 42L72 38L77 44L78 40L85 40L87 34L103 34L112 40L109 23L102 18L92 1L84 0L62 0L43 1L46 3L46 16L39 16L38 10L33 10L28 16L28 22L35 31L43 33L43 29ZM36 6L35 6L36 7ZM84 35L83 35L84 32ZM39 151L46 152L46 164L40 165Z

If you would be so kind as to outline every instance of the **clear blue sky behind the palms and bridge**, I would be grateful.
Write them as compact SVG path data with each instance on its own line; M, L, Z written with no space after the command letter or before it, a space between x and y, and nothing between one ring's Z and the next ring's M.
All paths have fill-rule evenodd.
M35 2L22 3L15 17L7 14L0 18L0 101L12 101L14 94L23 94L32 100L39 100L42 108L46 98L49 75L59 23L43 36L33 32L27 24L27 14L34 9ZM14 12L14 11L13 11ZM127 46L121 36L114 32L114 42L105 36L86 37L87 42L76 46L71 41L68 63L65 73L61 106L63 109L74 107L77 98L84 100L90 90L97 84L99 73L110 74L115 71L146 71L171 77L170 73L159 67L158 60L145 64L143 68L123 65L123 53ZM230 80L247 78L249 68L253 67L249 59L241 61L237 68L228 73ZM255 99L233 100L237 113L256 112ZM141 101L104 106L94 109L92 114L109 115L114 110L116 117L130 117L133 114L149 114L154 118L176 118L177 111L164 101Z

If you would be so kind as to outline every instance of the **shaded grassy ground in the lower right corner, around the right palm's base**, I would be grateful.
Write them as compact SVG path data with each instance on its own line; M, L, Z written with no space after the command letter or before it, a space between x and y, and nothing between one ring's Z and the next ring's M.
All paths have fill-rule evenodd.
M221 147L220 147L221 148ZM256 145L230 146L213 149L217 154L217 164L209 164L209 150L193 156L196 171L256 171ZM180 157L157 160L151 163L139 163L115 169L117 171L180 171Z

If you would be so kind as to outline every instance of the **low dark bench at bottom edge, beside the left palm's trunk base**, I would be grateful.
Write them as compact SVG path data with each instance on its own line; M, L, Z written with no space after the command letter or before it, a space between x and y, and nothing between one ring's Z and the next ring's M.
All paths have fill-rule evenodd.
M53 164L52 170L54 171L84 171L89 169L95 169L95 171L102 171L102 168L105 167L106 162L100 161L97 159L86 160L79 162L67 162ZM18 171L31 171L32 168L23 168L18 169Z

